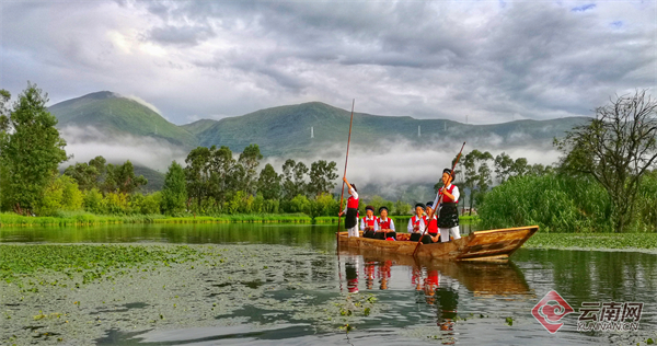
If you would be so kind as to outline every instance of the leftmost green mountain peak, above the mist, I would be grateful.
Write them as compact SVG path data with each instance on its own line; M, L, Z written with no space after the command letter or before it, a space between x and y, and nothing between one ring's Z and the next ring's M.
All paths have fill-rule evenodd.
M198 145L193 134L169 123L148 106L108 91L60 102L48 111L59 119L59 128L93 126L108 134L161 138L186 148Z

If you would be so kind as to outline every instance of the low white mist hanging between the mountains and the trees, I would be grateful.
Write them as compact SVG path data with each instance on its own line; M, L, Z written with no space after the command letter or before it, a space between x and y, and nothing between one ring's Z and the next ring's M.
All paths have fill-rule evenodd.
M66 151L73 158L64 166L76 162L89 162L96 155L103 155L107 162L123 163L130 160L135 165L142 165L159 172L166 172L173 160L184 165L188 150L170 142L151 137L135 137L125 134L110 134L93 127L66 127L61 129L67 140ZM514 138L523 138L523 134L511 134ZM526 158L529 164L552 164L560 153L545 143L537 146L506 147L499 136L475 138L469 141L463 154L477 149L489 151L493 157L506 152L514 160ZM351 145L347 177L358 186L366 197L373 195L387 199L420 200L433 199L433 186L438 182L442 170L451 168L451 160L461 149L462 142L436 141L418 145L404 139L381 140L376 146ZM242 148L234 148L235 159ZM283 173L283 164L287 159L301 161L308 165L316 160L335 161L338 169L336 192L342 187L342 175L345 164L345 145L334 145L315 152L312 157L267 157L263 159L261 169L270 163L278 173ZM493 163L491 162L491 165ZM491 166L494 170L493 166Z

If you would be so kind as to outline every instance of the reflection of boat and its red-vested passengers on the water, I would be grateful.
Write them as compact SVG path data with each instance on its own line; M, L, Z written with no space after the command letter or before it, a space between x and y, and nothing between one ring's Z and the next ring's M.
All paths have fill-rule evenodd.
M443 345L458 342L454 326L459 319L459 293L463 295L462 288L475 297L502 296L512 300L518 299L519 295L533 295L522 272L507 261L491 263L414 258L349 247L341 249L338 258L343 258L341 261L345 264L349 292L358 292L358 264L362 262L365 290L374 290L377 284L380 290L414 290L417 303L435 307L436 324Z

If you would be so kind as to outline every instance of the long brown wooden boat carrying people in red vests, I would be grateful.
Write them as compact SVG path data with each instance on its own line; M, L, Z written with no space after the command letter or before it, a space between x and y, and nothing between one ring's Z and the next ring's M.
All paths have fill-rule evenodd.
M538 226L476 231L447 243L420 244L418 257L452 261L507 261L508 257L539 230ZM410 233L397 234L396 241L348 237L338 232L338 246L368 249L385 253L413 255L417 242L410 241Z

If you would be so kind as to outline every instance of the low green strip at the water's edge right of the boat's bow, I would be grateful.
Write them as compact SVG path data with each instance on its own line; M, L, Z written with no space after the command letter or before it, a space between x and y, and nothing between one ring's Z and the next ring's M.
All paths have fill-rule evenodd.
M542 233L530 238L530 249L657 249L657 233Z

